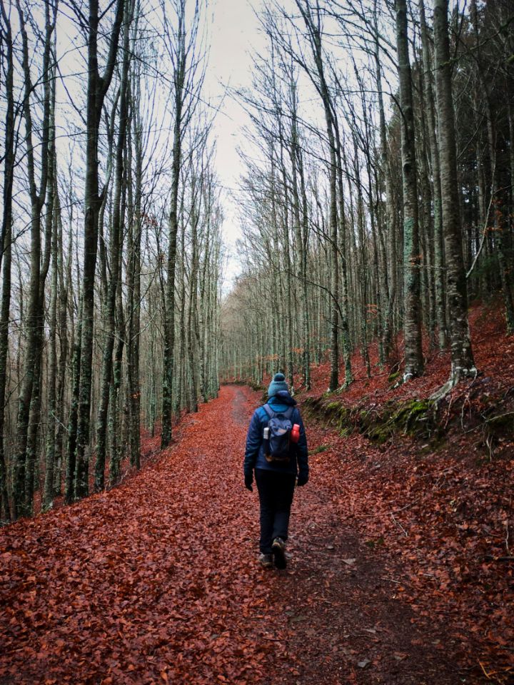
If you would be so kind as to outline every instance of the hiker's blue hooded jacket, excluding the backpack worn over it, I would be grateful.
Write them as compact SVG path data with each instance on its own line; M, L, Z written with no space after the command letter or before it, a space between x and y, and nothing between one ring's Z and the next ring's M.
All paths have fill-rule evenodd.
M296 443L296 450L291 450L291 460L288 464L277 462L267 462L264 456L263 430L268 425L269 416L264 407L258 407L253 412L253 417L248 427L246 436L246 450L244 458L244 473L251 475L253 469L263 469L266 471L277 471L281 473L291 473L308 478L308 450L307 438L300 412L296 407L296 400L289 395L287 390L279 390L276 395L270 397L268 405L274 412L285 412L288 407L294 407L291 423L298 423L300 426L300 439Z

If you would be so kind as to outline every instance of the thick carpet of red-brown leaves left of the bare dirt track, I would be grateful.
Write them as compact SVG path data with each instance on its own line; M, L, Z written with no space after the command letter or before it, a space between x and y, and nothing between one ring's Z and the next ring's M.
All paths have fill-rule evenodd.
M230 419L250 394L222 390L111 492L0 531L0 680L251 685L287 661Z

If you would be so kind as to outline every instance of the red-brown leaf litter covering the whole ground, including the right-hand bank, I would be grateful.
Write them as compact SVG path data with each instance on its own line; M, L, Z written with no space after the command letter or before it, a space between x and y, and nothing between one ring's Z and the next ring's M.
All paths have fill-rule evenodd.
M514 340L495 311L472 323L482 385L445 400L450 428L429 450L307 423L286 571L256 564L242 457L261 393L244 386L183 417L165 452L148 439L116 489L4 527L0 684L513 682L513 436L492 446L458 423L513 390ZM373 372L338 400L426 397L448 357L395 390Z

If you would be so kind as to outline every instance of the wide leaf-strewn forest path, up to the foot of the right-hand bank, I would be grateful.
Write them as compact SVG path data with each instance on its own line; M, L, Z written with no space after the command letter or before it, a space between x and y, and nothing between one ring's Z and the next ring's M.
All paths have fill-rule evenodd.
M120 487L0 531L0 684L463 681L341 520L316 458L288 569L258 567L241 463L257 403L223 387Z

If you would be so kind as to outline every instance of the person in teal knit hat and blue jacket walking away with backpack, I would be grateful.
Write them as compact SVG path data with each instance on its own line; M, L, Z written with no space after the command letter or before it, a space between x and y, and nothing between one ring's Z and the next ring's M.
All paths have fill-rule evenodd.
M253 470L261 504L261 554L265 568L286 568L286 540L295 482L308 482L307 438L296 400L283 373L268 387L268 402L253 412L246 436L245 487L253 492ZM298 474L298 480L297 480Z

